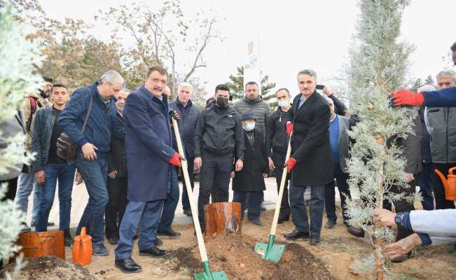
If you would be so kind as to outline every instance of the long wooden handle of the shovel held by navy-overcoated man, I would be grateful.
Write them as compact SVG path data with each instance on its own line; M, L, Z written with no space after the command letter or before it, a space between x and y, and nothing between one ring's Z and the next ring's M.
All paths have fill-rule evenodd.
M177 121L172 118L172 125L174 127L174 134L176 134L177 150L181 155L185 155L184 148L182 148L181 134L179 134L179 127ZM198 209L195 205L195 199L193 197L193 191L191 189L190 177L188 176L188 164L187 160L181 160L182 174L184 174L185 186L187 188L188 202L190 202L190 209L192 212L193 224L195 225L196 239L198 240L198 247L200 248L201 262L207 261L207 252L205 246L205 240L202 238L202 232L200 228L200 221L198 220Z

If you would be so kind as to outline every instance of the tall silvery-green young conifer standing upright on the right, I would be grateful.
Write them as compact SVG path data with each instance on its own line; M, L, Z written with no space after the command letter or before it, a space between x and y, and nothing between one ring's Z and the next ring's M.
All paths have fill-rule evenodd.
M408 0L360 0L357 36L350 50L347 71L352 101L350 109L359 123L349 132L355 143L348 162L350 190L361 200L348 203L350 224L362 226L375 239L375 254L364 268L382 279L384 258L381 241L393 239L389 228L372 228L373 210L390 202L413 197L389 193L392 184L408 188L403 172L405 162L395 137L412 133L414 109L392 108L390 92L404 86L408 56L413 48L399 41L401 18ZM390 143L391 142L391 143ZM374 261L375 256L375 261Z

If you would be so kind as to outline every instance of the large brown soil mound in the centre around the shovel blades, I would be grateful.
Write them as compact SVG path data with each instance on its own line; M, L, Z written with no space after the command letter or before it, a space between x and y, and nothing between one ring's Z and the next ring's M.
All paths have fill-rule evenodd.
M333 279L324 264L303 246L286 244L282 258L275 263L261 260L254 251L257 241L249 236L238 235L219 235L206 239L212 272L223 270L228 279L242 280ZM176 270L186 267L191 274L202 272L198 246L179 248L170 255L170 260Z

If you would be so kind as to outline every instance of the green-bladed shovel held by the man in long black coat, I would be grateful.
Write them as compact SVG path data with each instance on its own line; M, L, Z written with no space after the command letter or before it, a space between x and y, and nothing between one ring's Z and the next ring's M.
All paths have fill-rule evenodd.
M290 135L291 139L291 135ZM289 160L291 155L291 144L288 141L288 148L286 149L286 158L285 162ZM279 262L282 253L284 253L285 245L274 244L275 241L275 232L277 232L277 222L279 221L279 211L280 211L280 202L282 202L282 196L284 195L284 188L286 182L286 175L288 173L288 168L284 167L284 172L282 173L282 181L280 181L279 197L277 203L275 204L274 218L272 219L272 227L269 234L268 244L257 243L255 245L256 253L261 255L263 260L270 260L272 262Z

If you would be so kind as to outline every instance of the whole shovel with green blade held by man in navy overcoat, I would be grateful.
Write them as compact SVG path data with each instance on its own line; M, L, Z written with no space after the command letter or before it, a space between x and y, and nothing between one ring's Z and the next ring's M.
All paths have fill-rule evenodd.
M182 148L181 135L179 134L179 127L177 127L177 121L172 118L172 125L174 127L174 133L176 134L177 149L181 155L184 155L184 149ZM228 280L225 272L211 272L209 268L209 262L207 261L207 253L205 240L202 239L202 233L200 228L200 221L198 221L198 215L196 214L198 209L196 209L195 199L193 198L193 192L190 184L190 177L188 177L188 168L187 161L185 159L181 160L182 165L182 174L184 174L185 186L188 193L188 201L190 202L190 209L192 212L193 224L195 225L196 239L198 240L198 248L200 248L202 268L205 270L202 273L193 274L195 280Z

